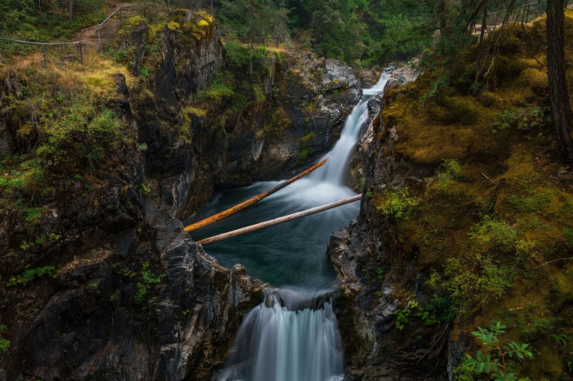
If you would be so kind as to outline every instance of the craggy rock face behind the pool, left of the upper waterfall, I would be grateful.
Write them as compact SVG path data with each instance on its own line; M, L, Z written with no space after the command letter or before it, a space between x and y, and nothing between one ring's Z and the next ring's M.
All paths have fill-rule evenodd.
M137 73L151 49L145 29L136 28L122 42L135 51ZM147 146L152 175L160 177L164 203L178 217L203 205L215 188L300 172L331 148L361 95L354 72L339 61L285 53L272 58L262 78L260 106L230 113L233 122L223 129L208 116L186 119L183 109L223 62L218 27L205 31L205 38L190 42L178 31L164 29L156 95L139 102L137 109L139 143ZM273 124L278 127L268 132ZM188 133L177 133L174 126Z

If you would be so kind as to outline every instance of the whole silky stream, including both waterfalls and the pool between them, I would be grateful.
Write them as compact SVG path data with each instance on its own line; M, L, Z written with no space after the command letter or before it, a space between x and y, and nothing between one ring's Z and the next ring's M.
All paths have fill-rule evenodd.
M382 93L390 74L382 74L347 117L327 164L257 204L191 232L194 240L346 199L356 193L346 173L360 127L368 120L367 102ZM217 193L186 225L230 208L280 184L257 182ZM359 203L247 233L205 247L230 268L241 263L250 276L280 289L268 289L265 301L241 324L216 381L339 381L344 375L342 342L328 292L336 287L335 269L326 244L359 211Z

